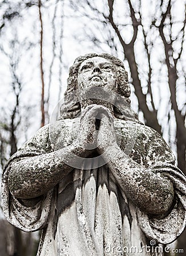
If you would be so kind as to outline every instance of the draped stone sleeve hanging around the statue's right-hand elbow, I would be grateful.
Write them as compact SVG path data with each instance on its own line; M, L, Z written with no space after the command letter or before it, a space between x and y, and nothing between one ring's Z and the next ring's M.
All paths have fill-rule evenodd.
M155 131L147 147L148 169L171 180L174 200L170 210L163 216L150 216L138 209L139 224L148 238L168 244L177 239L185 228L186 221L186 178L175 167L175 156Z

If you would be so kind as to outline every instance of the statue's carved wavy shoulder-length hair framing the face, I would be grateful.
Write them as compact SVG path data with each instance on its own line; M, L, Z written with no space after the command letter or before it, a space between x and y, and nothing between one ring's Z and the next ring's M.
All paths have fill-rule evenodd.
M133 112L130 108L130 86L128 83L128 75L125 70L124 64L121 60L119 60L117 57L110 55L108 53L89 53L84 56L77 57L75 62L73 63L72 67L69 68L69 77L67 80L67 90L64 94L64 104L60 108L60 118L59 119L65 119L65 118L75 118L77 115L81 112L81 106L80 103L76 103L72 106L73 102L73 92L78 89L77 84L77 78L78 78L78 70L80 68L80 65L83 61L90 59L92 57L102 57L106 60L111 61L111 63L115 67L116 71L116 84L117 84L117 93L121 96L123 101L125 101L125 106L121 106L119 102L117 102L117 106L119 106L119 109L122 109L122 113L118 110L118 108L114 107L114 115L117 118L120 119L135 119L135 121L138 121L138 115ZM72 107L69 108L69 105ZM123 105L123 104L122 104ZM67 110L68 109L68 110ZM123 113L125 113L123 115Z

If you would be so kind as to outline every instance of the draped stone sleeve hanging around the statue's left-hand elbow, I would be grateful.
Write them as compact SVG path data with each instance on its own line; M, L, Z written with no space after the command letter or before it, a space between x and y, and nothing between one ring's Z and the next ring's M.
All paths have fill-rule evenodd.
M17 199L11 195L8 187L9 172L14 162L23 158L47 154L47 152L51 152L51 147L48 138L48 126L44 126L10 158L3 172L3 212L11 224L24 232L32 232L46 226L52 201L55 199L55 189L34 199Z

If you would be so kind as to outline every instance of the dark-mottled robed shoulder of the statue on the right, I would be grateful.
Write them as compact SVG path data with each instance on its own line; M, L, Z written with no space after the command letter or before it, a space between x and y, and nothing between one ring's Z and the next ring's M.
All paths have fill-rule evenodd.
M118 144L135 162L144 167L156 162L175 163L171 148L151 127L123 120L115 120L114 127Z

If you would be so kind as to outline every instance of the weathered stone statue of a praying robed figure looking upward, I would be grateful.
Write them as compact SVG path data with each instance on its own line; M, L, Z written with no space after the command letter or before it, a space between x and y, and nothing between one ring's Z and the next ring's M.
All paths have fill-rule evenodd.
M183 232L185 176L129 96L122 61L78 57L60 118L6 164L3 211L25 232L42 229L38 256L161 255L154 246Z

